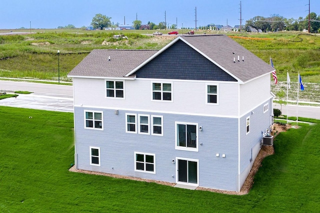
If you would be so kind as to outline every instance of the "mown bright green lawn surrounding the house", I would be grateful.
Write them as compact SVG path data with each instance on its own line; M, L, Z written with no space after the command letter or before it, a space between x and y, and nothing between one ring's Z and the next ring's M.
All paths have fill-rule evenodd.
M0 212L320 211L318 124L280 133L240 196L69 172L72 113L1 106L0 117Z

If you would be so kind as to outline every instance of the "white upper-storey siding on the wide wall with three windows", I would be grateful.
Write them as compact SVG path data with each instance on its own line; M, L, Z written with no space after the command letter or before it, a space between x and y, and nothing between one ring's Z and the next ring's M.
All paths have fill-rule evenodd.
M152 82L171 82L173 101L151 100ZM206 83L209 82L218 85L218 105L206 104ZM205 116L238 116L237 82L136 78L125 80L125 99L106 98L105 79L74 78L73 86L75 106L82 104L88 107L111 107L177 114L187 112Z

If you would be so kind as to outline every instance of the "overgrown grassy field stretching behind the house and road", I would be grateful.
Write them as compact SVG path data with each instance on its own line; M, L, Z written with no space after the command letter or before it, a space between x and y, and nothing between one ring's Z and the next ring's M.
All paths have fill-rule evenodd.
M167 31L164 30L162 36L151 36L153 30L39 29L35 31L31 34L0 35L0 78L56 81L59 61L60 80L71 81L72 79L67 78L67 73L94 48L160 49L175 37L167 36ZM180 33L186 31L186 29L179 30ZM202 34L204 31L196 33ZM205 31L205 33L217 32ZM115 39L113 34L124 34L128 39ZM305 87L299 100L320 102L319 35L285 31L226 34L265 62L268 63L269 56L272 57L280 81L278 85L271 83L273 93L286 91L287 71L292 85L294 82L297 83L299 72ZM60 51L59 60L57 50ZM289 94L291 100L296 99L295 85Z

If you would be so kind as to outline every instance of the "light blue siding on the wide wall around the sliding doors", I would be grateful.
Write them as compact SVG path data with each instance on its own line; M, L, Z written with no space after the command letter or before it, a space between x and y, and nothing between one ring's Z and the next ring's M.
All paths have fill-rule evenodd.
M103 111L103 130L84 128L84 110ZM163 136L125 132L125 113L163 116ZM198 123L198 151L175 149L175 121ZM146 111L74 107L79 169L175 182L175 157L198 160L199 186L236 190L237 118L186 116ZM202 145L200 145L202 143ZM89 146L100 147L100 166L90 165ZM134 171L134 151L155 154L155 174ZM216 156L219 153L219 157ZM225 154L222 157L221 154Z

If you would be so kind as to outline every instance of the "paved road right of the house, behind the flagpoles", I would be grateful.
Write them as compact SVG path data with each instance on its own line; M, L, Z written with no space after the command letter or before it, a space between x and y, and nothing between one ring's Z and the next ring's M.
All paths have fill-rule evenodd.
M280 104L273 104L274 108L280 109ZM288 105L288 116L310 117L320 119L320 107L318 106L302 106ZM286 105L282 105L282 114L286 114Z

